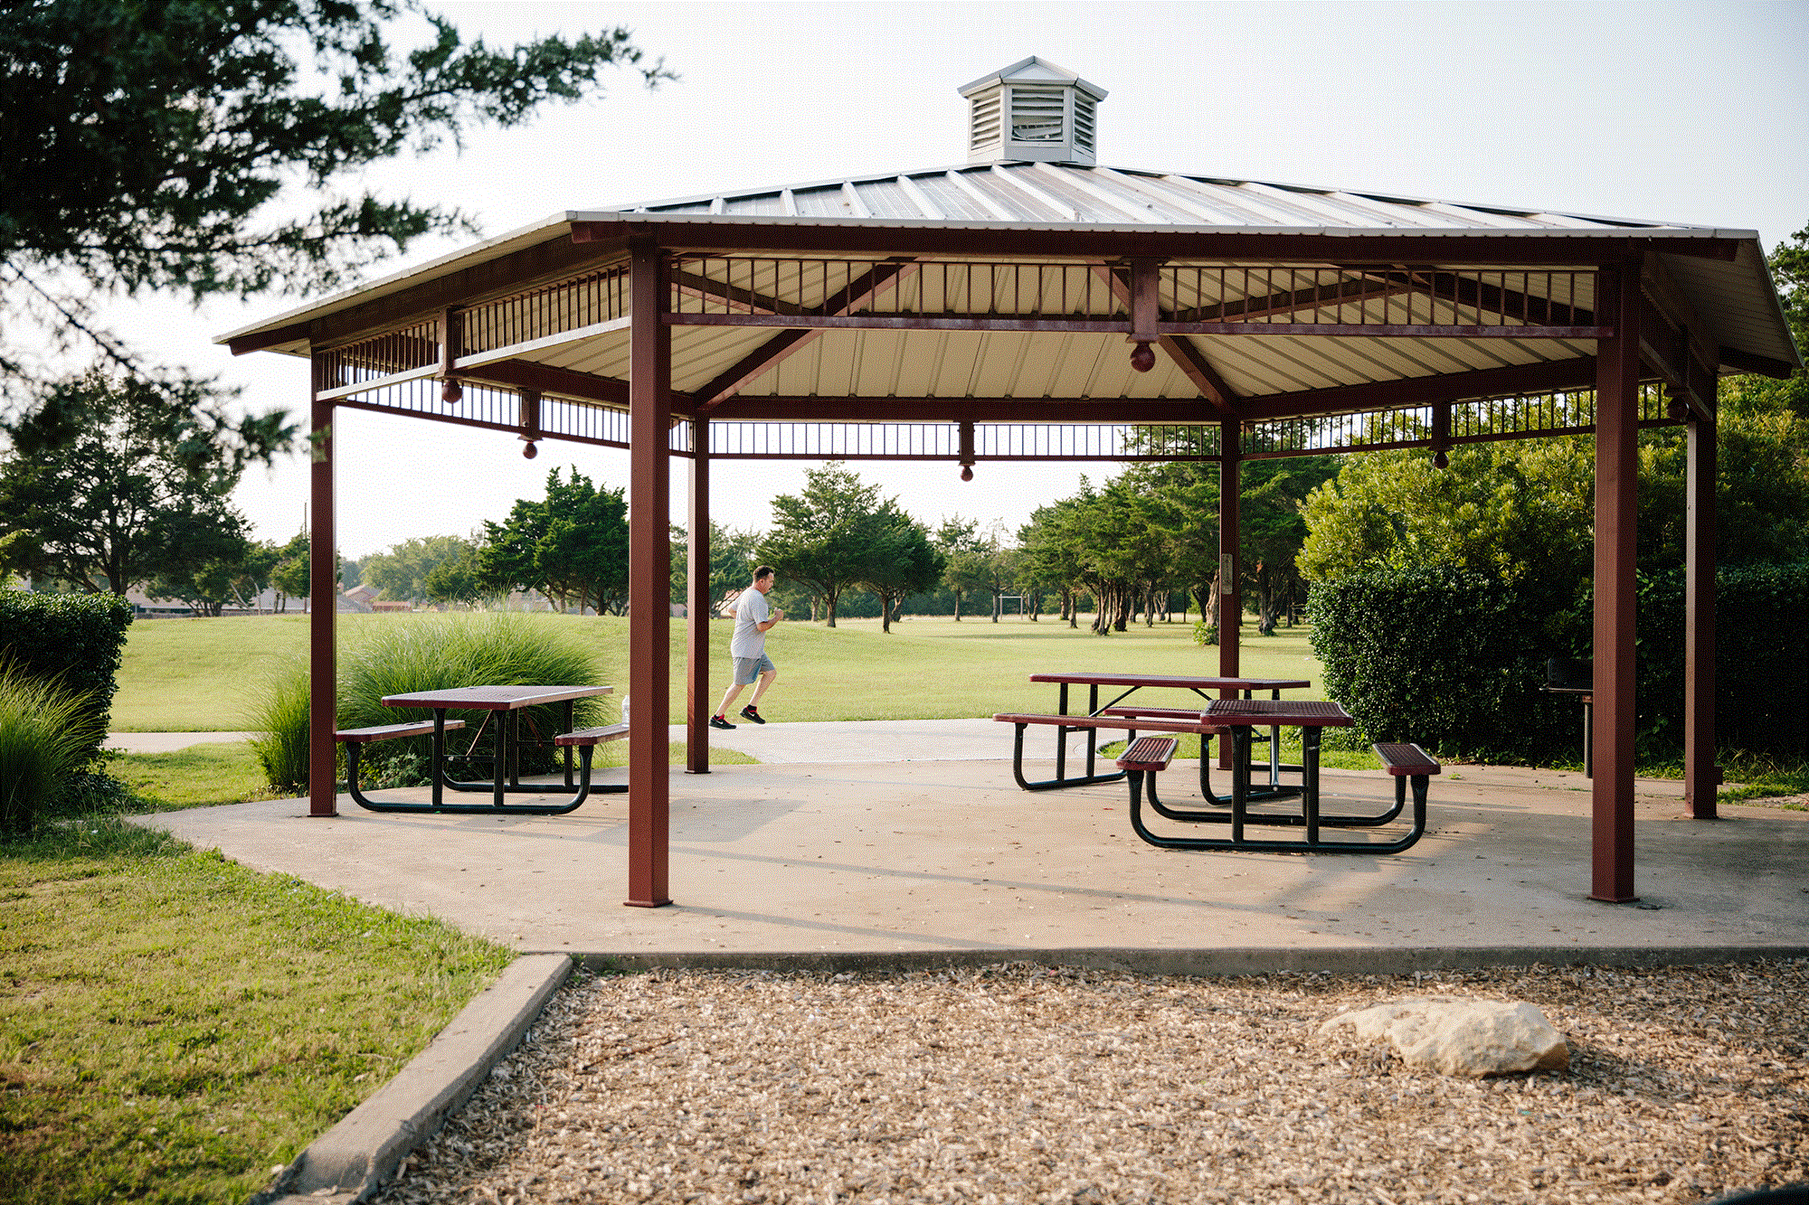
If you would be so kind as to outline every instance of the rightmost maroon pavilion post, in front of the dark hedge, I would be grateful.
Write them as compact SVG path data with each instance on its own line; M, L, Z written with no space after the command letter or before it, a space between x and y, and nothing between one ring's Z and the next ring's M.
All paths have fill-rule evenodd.
M1715 820L1715 420L1690 420L1684 525L1684 814Z

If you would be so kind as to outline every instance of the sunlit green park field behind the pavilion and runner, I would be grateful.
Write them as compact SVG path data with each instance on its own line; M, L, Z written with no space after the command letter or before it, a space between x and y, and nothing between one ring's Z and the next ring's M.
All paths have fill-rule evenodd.
M340 615L342 646L376 624L447 622L445 615ZM606 682L628 680L628 621L545 615L592 646ZM729 680L729 621L711 626L711 693ZM671 722L684 720L684 621L673 621ZM137 621L127 633L112 729L123 733L203 733L251 727L257 688L308 651L306 615ZM762 711L785 720L948 720L995 711L1053 711L1055 688L1031 673L1111 669L1123 673L1217 671L1217 650L1192 640L1192 624L1132 624L1107 637L1058 619L906 619L881 631L877 619L845 619L836 628L780 622L767 635L780 680ZM1321 677L1306 628L1261 637L1254 624L1241 644L1245 677ZM1147 702L1160 697L1145 695ZM1194 698L1185 695L1185 698ZM1179 706L1183 695L1174 697Z

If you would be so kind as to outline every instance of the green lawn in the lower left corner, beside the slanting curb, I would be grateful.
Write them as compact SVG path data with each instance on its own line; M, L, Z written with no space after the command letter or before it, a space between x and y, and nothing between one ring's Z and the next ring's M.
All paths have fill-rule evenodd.
M0 845L0 1200L242 1201L510 957L119 820Z

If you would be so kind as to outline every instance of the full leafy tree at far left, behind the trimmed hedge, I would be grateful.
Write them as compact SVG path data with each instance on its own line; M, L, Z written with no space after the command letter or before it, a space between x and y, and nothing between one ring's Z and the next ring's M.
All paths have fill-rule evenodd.
M253 452L194 405L166 405L166 391L89 373L4 431L0 537L13 568L125 593L242 555L228 496Z

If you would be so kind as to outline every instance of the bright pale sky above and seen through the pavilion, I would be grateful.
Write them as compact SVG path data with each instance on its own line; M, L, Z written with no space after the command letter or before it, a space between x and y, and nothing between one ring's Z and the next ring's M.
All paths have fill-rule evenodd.
M492 45L626 25L677 81L615 74L604 96L458 154L378 165L346 188L456 206L487 235L564 210L955 166L957 89L1040 54L1109 96L1105 166L1389 192L1458 203L1757 230L1769 251L1809 226L1809 2L1780 4L604 4L429 7ZM420 242L373 275L456 250ZM150 299L116 329L163 362L242 387L251 411L308 409L304 360L233 358L213 338L309 299ZM362 557L465 536L575 465L624 487L628 454L340 411L338 541ZM713 517L767 528L810 461L716 461ZM1015 532L1114 465L854 461L935 527ZM682 465L673 519L684 521ZM260 539L304 523L302 456L253 469L235 503Z

